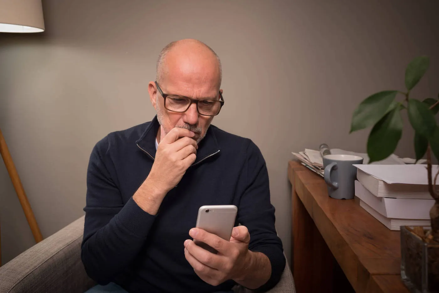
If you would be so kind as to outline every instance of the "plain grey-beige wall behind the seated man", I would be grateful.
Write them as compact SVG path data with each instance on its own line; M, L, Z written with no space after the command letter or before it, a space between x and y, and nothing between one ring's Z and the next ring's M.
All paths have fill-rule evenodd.
M159 3L160 2L160 3ZM213 123L250 137L270 173L277 229L290 255L292 151L365 151L349 135L356 105L404 89L407 62L432 67L414 90L439 91L438 1L43 1L46 29L0 34L0 127L44 237L83 215L86 167L108 132L150 120L147 84L160 49L197 38L223 62ZM414 156L407 127L396 154ZM2 260L33 238L0 163Z

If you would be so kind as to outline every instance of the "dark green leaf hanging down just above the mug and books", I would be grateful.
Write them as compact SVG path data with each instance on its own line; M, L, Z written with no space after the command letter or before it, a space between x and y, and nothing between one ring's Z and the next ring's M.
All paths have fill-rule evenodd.
M396 107L374 125L367 139L367 155L369 163L381 161L390 156L396 149L403 132L403 121Z

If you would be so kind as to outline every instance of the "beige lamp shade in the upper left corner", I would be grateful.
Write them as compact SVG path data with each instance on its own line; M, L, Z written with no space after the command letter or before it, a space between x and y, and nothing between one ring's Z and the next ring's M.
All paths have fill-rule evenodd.
M43 31L41 0L0 0L0 32L40 33Z

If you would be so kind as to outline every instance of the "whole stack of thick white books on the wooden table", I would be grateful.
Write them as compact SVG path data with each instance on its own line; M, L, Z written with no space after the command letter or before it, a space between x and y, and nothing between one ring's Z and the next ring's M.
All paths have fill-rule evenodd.
M428 192L426 165L354 165L355 195L360 206L390 230L430 226L434 204ZM439 166L432 166L432 173Z

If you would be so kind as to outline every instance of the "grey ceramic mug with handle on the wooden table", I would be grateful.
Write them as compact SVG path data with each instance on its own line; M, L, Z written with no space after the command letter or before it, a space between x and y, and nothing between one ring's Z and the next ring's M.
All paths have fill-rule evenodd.
M353 199L355 194L356 166L363 158L352 155L326 155L323 157L324 178L328 195L334 199Z

